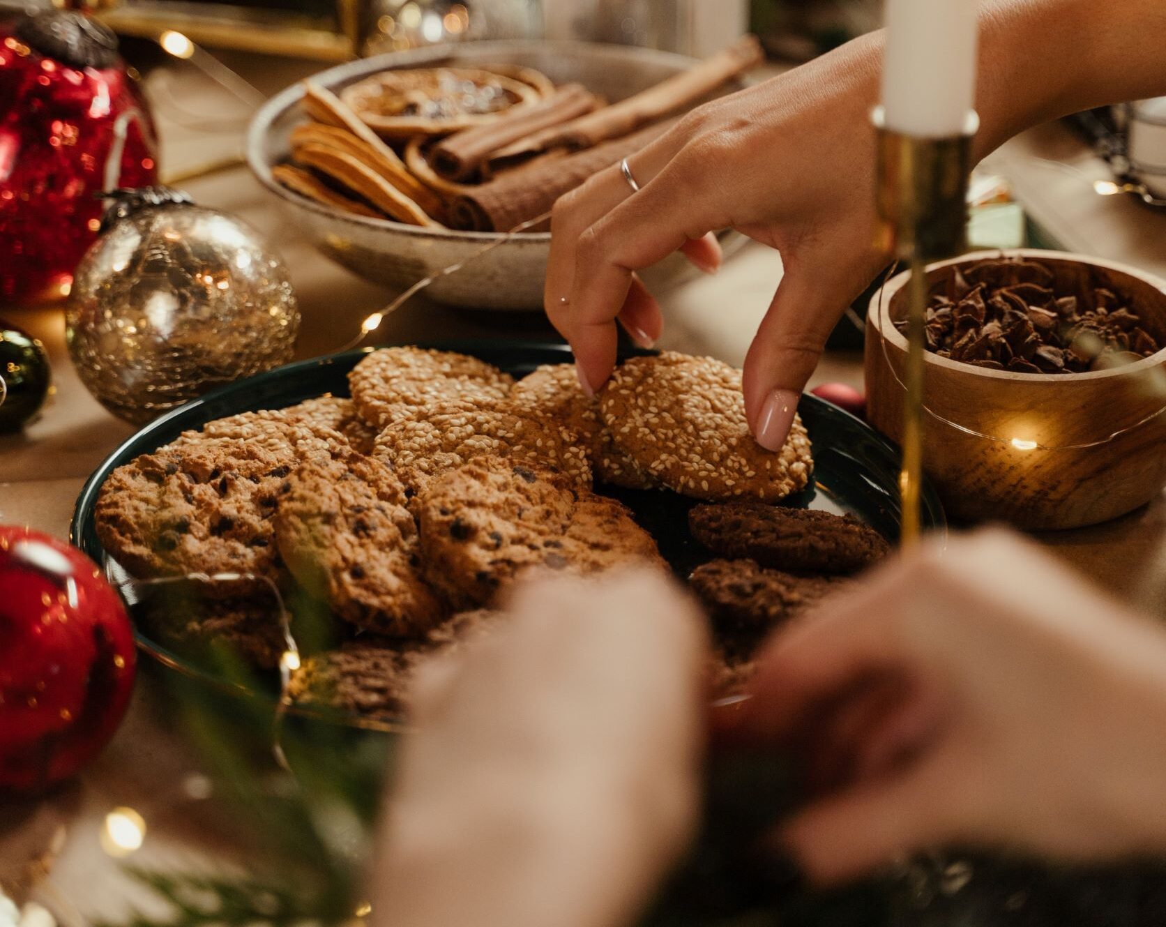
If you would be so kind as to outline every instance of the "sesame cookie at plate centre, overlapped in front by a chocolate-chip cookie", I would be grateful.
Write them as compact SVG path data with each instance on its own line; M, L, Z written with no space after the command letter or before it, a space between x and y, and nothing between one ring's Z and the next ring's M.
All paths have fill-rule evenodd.
M512 402L434 402L381 431L373 455L415 492L485 456L549 466L576 486L591 486L591 465L576 434L546 414Z

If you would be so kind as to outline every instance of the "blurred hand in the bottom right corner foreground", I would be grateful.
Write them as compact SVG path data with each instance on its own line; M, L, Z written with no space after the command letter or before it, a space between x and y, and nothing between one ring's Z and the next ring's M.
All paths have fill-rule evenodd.
M733 735L834 775L780 834L819 880L937 845L1166 850L1166 633L1003 532L779 635L753 694Z

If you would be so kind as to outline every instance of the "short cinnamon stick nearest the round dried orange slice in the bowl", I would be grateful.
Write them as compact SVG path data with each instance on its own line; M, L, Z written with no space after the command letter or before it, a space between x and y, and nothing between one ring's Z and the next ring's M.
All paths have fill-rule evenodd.
M433 150L434 169L451 181L468 180L499 148L590 113L598 104L582 84L568 84L535 106L450 135Z

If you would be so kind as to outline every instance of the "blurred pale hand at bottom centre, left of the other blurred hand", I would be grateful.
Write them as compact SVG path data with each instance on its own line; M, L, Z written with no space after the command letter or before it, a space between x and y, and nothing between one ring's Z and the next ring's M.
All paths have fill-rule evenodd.
M693 836L703 623L655 575L540 582L421 681L373 875L382 925L614 927Z

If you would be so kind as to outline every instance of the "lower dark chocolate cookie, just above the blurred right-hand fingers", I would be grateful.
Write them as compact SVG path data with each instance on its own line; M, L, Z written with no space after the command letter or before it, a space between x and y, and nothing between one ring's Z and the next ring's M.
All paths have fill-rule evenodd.
M752 560L716 560L698 567L689 585L729 656L747 655L771 630L796 618L844 587L837 576L794 576L761 569Z

